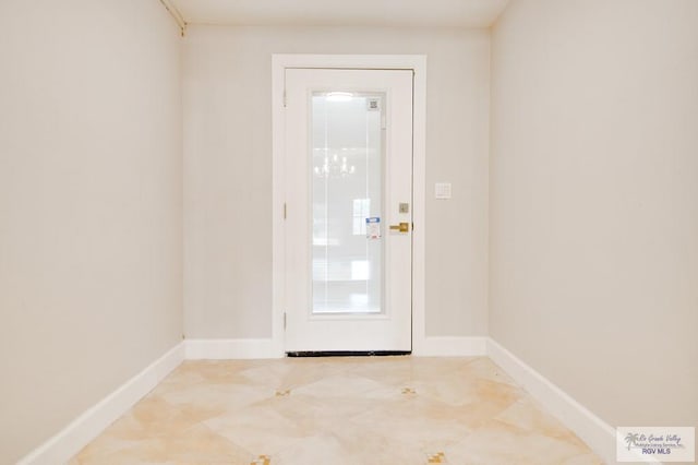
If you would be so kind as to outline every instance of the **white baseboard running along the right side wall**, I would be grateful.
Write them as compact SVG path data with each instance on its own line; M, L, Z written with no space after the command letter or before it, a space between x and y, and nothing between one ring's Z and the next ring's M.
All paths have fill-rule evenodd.
M492 361L502 367L547 412L573 430L606 463L616 462L615 428L490 337L486 347Z

